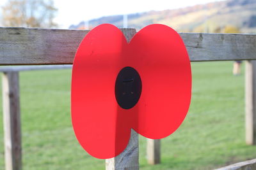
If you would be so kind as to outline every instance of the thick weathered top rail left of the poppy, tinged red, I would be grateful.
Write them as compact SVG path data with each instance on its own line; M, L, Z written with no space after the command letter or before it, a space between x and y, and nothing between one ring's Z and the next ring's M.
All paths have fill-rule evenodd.
M125 37L136 32L121 31ZM77 47L88 32L0 27L0 65L72 64Z

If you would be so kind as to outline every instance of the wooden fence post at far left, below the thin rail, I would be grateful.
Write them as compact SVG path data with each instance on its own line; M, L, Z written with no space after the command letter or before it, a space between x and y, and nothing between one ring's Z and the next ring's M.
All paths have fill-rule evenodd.
M4 157L6 170L22 169L19 72L3 73Z

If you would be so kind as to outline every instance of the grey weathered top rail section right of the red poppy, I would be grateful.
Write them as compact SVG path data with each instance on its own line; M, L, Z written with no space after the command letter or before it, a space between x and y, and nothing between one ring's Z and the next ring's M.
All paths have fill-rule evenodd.
M182 33L191 61L255 60L256 34Z

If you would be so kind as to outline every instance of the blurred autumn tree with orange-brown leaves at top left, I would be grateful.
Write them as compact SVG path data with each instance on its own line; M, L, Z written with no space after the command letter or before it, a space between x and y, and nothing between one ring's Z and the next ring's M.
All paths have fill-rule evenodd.
M58 26L53 21L58 11L53 0L9 0L1 10L4 27Z

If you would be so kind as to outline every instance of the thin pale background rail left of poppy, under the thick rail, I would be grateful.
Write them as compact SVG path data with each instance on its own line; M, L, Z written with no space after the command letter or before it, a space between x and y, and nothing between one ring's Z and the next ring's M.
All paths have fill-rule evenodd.
M49 69L71 69L72 65L48 65L48 66L1 66L0 72L11 71L32 71L32 70L49 70Z

